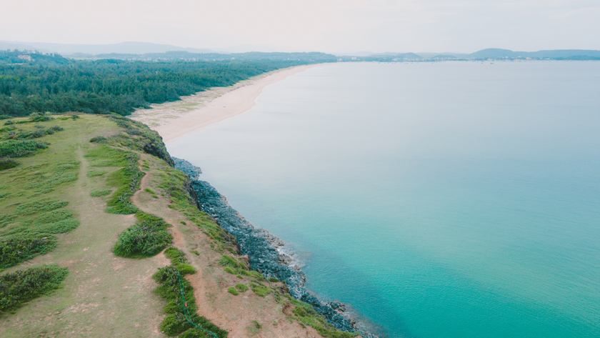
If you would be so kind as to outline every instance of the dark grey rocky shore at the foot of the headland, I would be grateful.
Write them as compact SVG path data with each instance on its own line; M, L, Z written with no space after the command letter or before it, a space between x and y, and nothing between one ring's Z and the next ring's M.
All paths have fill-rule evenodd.
M346 312L344 304L324 302L304 287L306 276L294 259L279 249L284 245L281 239L264 229L255 229L250 222L241 217L214 187L198 179L201 174L198 167L182 159L174 158L174 161L176 169L189 175L199 208L214 217L223 229L236 237L241 254L249 257L251 269L261 272L268 278L275 277L286 282L292 297L311 304L338 329L348 332L358 331L363 337L377 338L359 327L356 319Z

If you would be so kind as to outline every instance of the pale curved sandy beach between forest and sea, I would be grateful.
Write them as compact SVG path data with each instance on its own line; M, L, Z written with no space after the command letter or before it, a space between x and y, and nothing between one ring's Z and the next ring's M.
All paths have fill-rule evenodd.
M256 104L254 100L265 86L319 65L308 64L270 71L240 81L234 86L213 87L194 95L183 96L181 101L153 104L151 109L138 109L129 117L158 131L164 141L171 141L248 111Z

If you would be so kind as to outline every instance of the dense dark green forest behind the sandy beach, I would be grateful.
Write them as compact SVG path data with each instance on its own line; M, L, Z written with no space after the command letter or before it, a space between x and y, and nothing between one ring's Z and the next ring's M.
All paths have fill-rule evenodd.
M175 101L212 86L230 86L266 71L325 61L284 54L274 59L259 55L244 61L164 62L75 61L19 51L3 51L0 56L0 61L19 63L0 63L0 115L8 116L46 111L128 115L139 107Z

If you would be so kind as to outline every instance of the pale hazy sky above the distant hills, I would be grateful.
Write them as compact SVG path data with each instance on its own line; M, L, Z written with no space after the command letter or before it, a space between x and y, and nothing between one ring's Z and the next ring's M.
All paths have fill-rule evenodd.
M599 0L0 0L0 40L281 50L600 49Z

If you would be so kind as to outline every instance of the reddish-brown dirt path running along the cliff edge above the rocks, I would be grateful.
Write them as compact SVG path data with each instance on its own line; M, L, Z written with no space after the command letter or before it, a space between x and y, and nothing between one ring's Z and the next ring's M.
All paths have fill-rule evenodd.
M142 156L142 159L151 160L146 155ZM230 338L321 337L315 329L301 327L298 322L290 321L281 312L283 304L277 303L272 294L259 297L251 290L238 296L229 294L229 287L239 283L249 285L250 278L239 279L224 272L223 267L218 264L221 254L211 249L209 237L191 224L183 214L166 207L169 204L167 199L156 199L144 191L147 188L156 192L158 185L159 177L154 177L151 173L146 174L141 179L141 189L134 194L132 201L144 212L162 217L165 222L171 224L169 232L174 239L173 246L186 252L186 257L197 271L185 277L194 287L194 297L199 307L197 314L229 331ZM187 224L182 224L181 221ZM192 250L199 254L191 253ZM261 324L261 329L254 327L254 320Z

